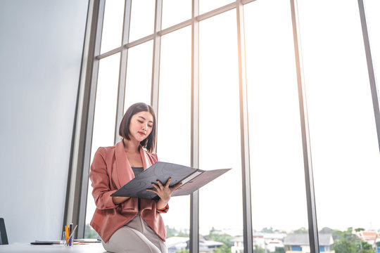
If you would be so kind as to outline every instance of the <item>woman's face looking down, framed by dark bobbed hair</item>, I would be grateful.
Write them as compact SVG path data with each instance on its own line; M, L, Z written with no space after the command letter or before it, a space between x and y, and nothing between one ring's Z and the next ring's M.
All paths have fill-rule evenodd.
M129 123L129 138L138 142L144 141L153 129L151 112L137 112Z

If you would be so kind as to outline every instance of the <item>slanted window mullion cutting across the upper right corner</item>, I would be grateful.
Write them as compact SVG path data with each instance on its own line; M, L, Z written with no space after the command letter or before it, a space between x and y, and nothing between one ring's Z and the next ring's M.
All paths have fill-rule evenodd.
M360 22L362 24L362 34L365 44L365 56L367 58L367 69L369 76L369 85L371 86L372 104L374 106L374 117L377 130L377 141L380 149L380 109L379 109L379 91L377 89L376 77L374 74L374 63L372 62L371 47L369 46L369 36L367 27L367 18L365 16L365 6L363 0L357 0L359 4Z

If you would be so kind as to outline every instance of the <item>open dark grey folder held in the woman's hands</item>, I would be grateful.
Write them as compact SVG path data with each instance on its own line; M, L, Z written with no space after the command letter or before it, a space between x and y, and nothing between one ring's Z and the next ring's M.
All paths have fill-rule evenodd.
M170 186L182 182L182 186L177 188L177 190L172 193L172 196L189 195L227 171L229 171L229 169L204 171L179 164L156 162L122 186L122 188L115 191L111 196L141 197L158 200L159 197L156 193L152 193L146 189L154 189L152 183L157 183L156 180L159 180L165 185L170 178L172 178Z

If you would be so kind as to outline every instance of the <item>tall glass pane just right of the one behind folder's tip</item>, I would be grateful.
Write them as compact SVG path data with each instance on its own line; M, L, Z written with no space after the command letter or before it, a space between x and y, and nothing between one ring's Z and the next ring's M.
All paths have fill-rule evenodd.
M253 251L281 252L291 250L290 238L308 235L289 1L254 1L244 6L244 18Z

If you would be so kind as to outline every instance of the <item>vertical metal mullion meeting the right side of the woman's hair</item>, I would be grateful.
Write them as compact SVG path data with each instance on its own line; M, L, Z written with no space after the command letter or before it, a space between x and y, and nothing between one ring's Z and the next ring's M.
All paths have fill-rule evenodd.
M156 0L156 14L154 22L154 39L153 39L153 63L152 63L152 89L151 105L156 112L158 119L158 93L160 84L160 51L161 36L158 34L161 30L163 15L163 0Z

